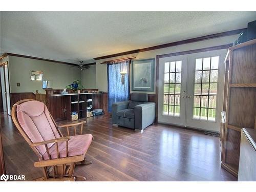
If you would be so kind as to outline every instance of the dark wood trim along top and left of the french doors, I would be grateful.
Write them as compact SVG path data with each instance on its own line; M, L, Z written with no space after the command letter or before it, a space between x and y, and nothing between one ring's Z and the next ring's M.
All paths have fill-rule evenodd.
M193 49L188 51L157 55L156 56L156 118L155 118L155 122L158 122L158 97L159 97L158 91L159 91L159 83L160 83L159 82L159 59L163 57L172 57L172 56L178 56L178 55L187 55L191 53L228 49L229 47L232 47L232 45L233 44L226 44L226 45L220 45L220 46L213 46L213 47L207 47L207 48L201 48L201 49Z

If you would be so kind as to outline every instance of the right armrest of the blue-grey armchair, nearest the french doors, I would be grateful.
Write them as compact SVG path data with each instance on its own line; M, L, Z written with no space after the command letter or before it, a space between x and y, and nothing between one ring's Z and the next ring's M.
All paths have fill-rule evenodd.
M147 102L136 105L134 108L135 129L143 130L148 125L155 121L156 117L156 103Z

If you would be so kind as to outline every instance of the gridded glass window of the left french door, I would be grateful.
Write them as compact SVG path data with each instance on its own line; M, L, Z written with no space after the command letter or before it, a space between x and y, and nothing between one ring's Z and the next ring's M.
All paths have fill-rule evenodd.
M180 116L182 61L164 63L163 115Z

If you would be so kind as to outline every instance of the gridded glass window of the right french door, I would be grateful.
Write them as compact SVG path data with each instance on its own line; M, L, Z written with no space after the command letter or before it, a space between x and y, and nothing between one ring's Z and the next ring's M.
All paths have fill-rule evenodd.
M196 59L193 118L215 121L219 56Z

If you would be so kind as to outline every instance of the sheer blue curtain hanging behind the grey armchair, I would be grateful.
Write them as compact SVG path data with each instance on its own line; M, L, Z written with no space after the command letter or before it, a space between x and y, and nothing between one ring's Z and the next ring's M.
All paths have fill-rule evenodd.
M108 63L108 111L112 103L127 101L130 97L130 60ZM126 72L121 75L120 72ZM122 77L123 76L123 77Z

